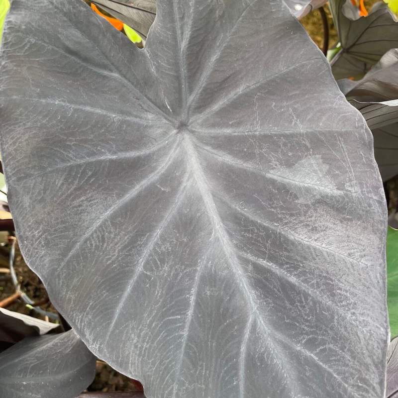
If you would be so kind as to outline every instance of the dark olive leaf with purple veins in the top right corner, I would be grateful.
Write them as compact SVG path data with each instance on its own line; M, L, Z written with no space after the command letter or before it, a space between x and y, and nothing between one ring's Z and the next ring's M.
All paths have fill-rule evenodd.
M383 1L368 16L358 14L359 19L354 19L358 8L350 0L331 0L329 5L341 43L330 62L336 79L362 77L388 50L398 47L398 22Z

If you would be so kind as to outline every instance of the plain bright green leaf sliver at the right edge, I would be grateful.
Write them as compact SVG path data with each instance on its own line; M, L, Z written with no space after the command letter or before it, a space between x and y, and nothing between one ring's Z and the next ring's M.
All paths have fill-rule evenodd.
M391 336L398 335L398 230L387 231L387 305Z

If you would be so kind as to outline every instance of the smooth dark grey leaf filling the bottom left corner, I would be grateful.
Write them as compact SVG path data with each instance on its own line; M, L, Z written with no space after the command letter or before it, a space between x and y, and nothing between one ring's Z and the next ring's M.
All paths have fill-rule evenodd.
M95 370L96 358L72 330L28 337L0 354L0 397L74 398Z

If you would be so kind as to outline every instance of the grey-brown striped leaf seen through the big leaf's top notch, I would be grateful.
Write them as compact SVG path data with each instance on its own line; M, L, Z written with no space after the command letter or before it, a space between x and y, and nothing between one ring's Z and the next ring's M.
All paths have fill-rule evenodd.
M132 27L145 39L155 20L155 0L95 0L92 2L100 5L115 18Z

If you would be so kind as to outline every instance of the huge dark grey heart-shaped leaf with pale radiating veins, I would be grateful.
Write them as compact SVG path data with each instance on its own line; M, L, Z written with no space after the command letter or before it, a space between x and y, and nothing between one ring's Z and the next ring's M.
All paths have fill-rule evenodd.
M139 50L80 0L25 5L1 54L10 207L89 348L149 398L380 398L372 136L287 7L161 0Z

